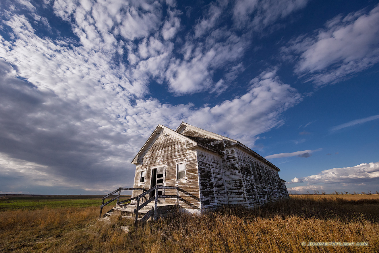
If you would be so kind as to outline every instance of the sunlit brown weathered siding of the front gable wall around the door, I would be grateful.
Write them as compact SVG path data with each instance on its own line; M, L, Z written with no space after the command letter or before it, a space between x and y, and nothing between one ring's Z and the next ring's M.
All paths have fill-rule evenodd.
M200 208L199 179L197 174L196 151L186 149L186 142L163 130L152 141L147 151L142 155L142 164L136 166L134 187L150 189L152 169L160 165L165 167L164 185L179 185L179 205L185 208ZM186 179L176 180L177 163L185 162ZM146 170L144 183L139 183L141 171ZM133 197L141 192L134 191ZM165 190L166 195L176 195L176 190ZM161 203L176 204L175 198L160 200Z

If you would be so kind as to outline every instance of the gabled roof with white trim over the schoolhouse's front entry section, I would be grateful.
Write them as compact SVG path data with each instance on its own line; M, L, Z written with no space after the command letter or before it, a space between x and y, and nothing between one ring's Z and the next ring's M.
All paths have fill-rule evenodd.
M186 137L185 135L182 135L182 134L180 134L180 133L178 133L178 132L176 132L176 131L174 131L174 130L166 127L166 126L163 126L163 125L159 124L155 128L155 130L153 131L153 133L150 135L150 137L147 139L147 141L145 142L145 144L142 146L142 148L139 150L139 152L137 153L137 155L133 158L133 160L132 160L133 164L138 164L139 163L138 157L141 156L149 148L149 146L152 143L152 141L154 141L154 139L156 138L156 136L159 135L161 132L163 132L163 130L166 130L167 132L169 132L174 137L177 137L180 140L188 141L189 143L193 144L193 146L191 146L191 148L189 148L189 149L202 148L202 149L205 149L207 151L214 152L216 154L222 155L222 153L220 151L216 150L216 149L213 149L211 147L205 146L202 143L198 143L197 141L194 141L191 138Z

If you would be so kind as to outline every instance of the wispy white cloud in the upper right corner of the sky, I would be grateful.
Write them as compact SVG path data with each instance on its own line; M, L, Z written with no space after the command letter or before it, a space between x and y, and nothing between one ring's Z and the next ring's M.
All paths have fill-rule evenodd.
M379 6L329 20L314 36L292 39L283 52L300 55L294 71L318 85L334 83L379 61Z

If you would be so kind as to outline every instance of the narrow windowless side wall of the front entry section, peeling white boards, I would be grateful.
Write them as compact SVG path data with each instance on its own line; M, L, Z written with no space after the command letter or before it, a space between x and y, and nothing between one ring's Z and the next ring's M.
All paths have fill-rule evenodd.
M228 204L224 183L224 171L219 155L197 150L200 200L202 208Z

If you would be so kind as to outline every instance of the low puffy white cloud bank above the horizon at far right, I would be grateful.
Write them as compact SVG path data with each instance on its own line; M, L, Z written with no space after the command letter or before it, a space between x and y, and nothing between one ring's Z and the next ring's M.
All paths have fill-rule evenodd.
M293 183L352 183L379 179L379 162L361 163L354 167L332 168L321 173L303 178L292 179Z

